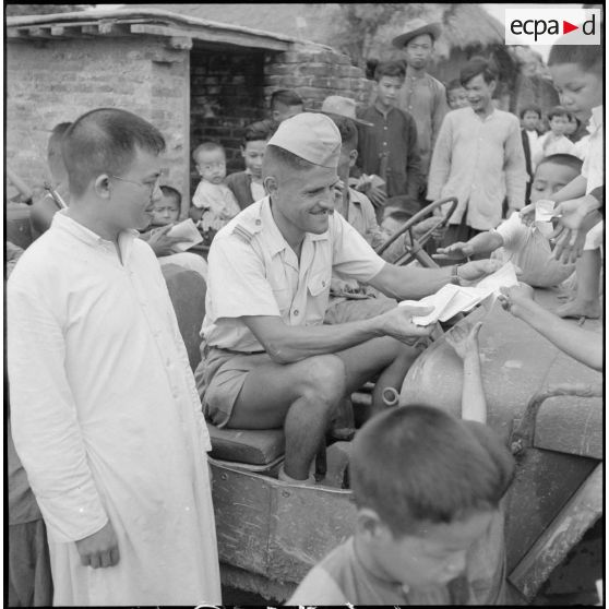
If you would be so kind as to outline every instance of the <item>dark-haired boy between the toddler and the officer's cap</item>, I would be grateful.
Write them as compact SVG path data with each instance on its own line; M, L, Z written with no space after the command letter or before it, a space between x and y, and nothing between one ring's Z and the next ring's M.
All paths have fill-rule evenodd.
M246 128L241 145L241 156L246 164L246 170L230 174L226 178L226 186L235 194L241 210L244 210L254 201L260 201L266 194L262 184L262 160L264 159L266 142L273 133L274 123L268 119L254 122Z

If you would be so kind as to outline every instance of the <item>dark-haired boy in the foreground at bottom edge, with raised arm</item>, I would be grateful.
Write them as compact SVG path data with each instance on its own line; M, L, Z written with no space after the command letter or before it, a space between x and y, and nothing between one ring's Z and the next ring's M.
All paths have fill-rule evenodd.
M502 604L500 501L514 462L482 425L479 330L451 338L464 360L463 417L470 420L407 406L361 428L350 458L354 536L309 572L287 605Z

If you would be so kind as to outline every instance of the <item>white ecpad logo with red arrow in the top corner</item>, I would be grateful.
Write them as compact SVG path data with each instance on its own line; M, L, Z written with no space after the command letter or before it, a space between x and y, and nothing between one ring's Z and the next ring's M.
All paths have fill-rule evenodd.
M506 45L600 45L599 9L505 9Z

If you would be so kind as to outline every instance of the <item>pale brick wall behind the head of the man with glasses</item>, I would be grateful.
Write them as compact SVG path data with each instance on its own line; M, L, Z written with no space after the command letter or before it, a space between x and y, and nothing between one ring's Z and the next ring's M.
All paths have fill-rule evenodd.
M29 184L48 179L51 129L99 107L130 110L167 140L167 182L188 188L189 52L151 38L31 40L7 46L7 164ZM187 100L188 101L188 100Z

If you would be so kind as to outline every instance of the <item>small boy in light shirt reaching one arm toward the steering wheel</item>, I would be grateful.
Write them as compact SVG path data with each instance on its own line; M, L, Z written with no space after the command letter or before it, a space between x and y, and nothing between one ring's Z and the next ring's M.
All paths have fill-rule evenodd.
M542 199L551 199L554 192L576 178L581 170L582 162L569 154L554 154L544 158L535 170L532 205ZM493 252L493 256L505 262L511 261L522 270L522 282L534 287L557 286L573 274L575 265L563 264L553 258L548 240L551 232L548 223L533 223L527 226L520 214L515 213L493 230L480 232L467 242L459 241L447 248L440 248L433 258L459 260Z

